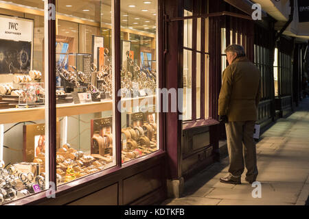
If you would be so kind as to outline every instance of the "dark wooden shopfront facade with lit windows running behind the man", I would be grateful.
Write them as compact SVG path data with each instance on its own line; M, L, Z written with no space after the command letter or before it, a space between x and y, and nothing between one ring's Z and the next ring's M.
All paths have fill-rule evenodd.
M229 44L260 69L262 130L302 99L302 1L70 2L0 3L3 205L180 196L186 179L220 159Z

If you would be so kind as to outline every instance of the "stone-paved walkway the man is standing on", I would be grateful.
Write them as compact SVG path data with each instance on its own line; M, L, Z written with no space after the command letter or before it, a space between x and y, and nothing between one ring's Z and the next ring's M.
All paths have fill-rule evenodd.
M185 181L181 198L170 198L161 205L306 205L309 99L301 101L297 111L288 118L277 120L260 136L256 147L258 187L244 181L246 169L242 184L220 183L219 178L227 175L229 168L229 157L225 156Z

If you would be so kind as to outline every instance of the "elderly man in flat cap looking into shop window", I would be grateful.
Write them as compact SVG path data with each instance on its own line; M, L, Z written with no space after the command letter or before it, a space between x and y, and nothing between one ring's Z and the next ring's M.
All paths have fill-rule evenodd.
M222 75L218 114L227 131L229 174L220 182L240 184L246 166L246 181L253 183L258 176L253 132L261 95L260 70L247 59L242 46L232 44L225 52L229 66Z

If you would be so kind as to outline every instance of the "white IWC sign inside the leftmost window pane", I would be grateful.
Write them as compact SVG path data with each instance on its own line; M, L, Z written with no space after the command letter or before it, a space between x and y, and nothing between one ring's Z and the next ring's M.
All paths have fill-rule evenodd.
M32 37L32 20L11 16L0 16L0 39L32 42Z

